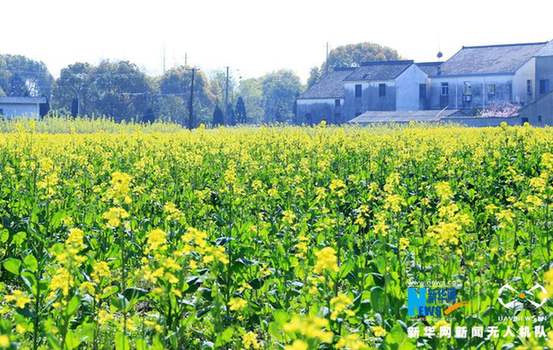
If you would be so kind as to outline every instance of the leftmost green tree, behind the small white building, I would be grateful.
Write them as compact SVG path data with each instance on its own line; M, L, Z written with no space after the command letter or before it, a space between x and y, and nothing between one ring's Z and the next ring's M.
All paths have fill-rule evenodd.
M54 79L43 62L31 60L21 55L0 55L0 89L10 95L10 82L23 81L28 96L45 96L50 98ZM17 93L23 92L17 82Z

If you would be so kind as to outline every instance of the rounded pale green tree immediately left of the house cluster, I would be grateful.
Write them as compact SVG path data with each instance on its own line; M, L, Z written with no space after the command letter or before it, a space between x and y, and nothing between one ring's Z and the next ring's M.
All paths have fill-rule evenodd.
M266 122L293 119L294 101L302 89L300 78L289 70L280 70L263 77L263 111Z

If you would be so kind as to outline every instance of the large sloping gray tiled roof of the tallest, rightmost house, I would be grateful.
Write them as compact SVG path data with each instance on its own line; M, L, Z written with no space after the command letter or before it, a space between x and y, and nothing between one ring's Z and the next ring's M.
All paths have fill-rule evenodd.
M512 74L547 42L463 46L441 66L441 75Z

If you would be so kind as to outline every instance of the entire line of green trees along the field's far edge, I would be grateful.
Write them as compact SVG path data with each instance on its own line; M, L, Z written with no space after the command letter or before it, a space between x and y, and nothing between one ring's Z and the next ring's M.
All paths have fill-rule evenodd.
M376 44L337 47L320 68L311 70L307 87L337 66L397 58L395 50ZM188 125L192 112L192 126L305 122L295 116L295 101L306 87L291 70L249 79L231 75L228 98L226 88L224 71L207 74L178 66L161 76L149 76L132 62L105 60L98 65L70 64L54 79L42 62L20 55L0 55L0 96L45 96L50 113Z

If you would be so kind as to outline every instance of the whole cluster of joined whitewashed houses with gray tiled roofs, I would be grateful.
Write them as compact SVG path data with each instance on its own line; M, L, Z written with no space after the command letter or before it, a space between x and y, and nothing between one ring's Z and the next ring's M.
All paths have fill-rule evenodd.
M464 46L445 62L375 61L329 72L298 98L296 113L307 123L516 124L519 111L553 91L552 81L553 41Z

